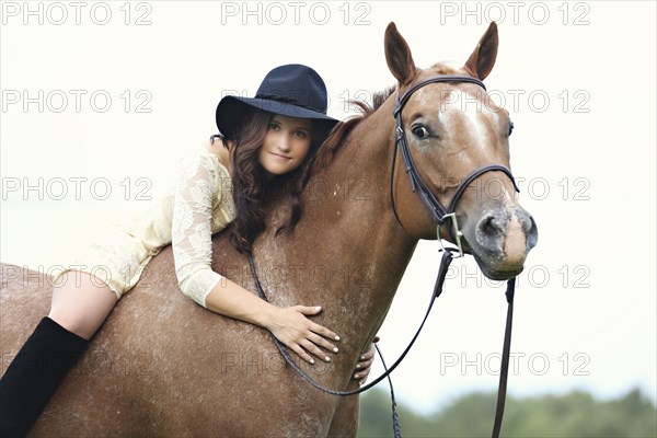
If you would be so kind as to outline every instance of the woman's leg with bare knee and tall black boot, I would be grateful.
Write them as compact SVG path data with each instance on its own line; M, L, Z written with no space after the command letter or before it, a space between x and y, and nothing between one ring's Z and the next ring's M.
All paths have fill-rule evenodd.
M87 273L62 274L44 318L0 380L0 437L27 434L91 336L117 302Z

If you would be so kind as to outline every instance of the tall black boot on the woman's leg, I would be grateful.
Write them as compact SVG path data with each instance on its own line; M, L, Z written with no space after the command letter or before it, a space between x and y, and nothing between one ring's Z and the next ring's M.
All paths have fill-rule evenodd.
M24 437L89 341L44 318L0 380L0 437Z

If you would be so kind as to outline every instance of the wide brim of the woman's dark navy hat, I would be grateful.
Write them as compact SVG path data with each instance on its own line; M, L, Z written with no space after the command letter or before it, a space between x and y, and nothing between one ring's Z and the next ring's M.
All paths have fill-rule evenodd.
M246 115L249 107L266 111L268 113L281 114L289 117L310 118L312 120L320 122L322 126L326 127L327 129L333 128L333 126L338 122L337 119L330 117L324 113L285 102L229 95L221 99L217 105L216 119L219 131L223 136L231 138L233 129L237 129L242 125L242 119Z

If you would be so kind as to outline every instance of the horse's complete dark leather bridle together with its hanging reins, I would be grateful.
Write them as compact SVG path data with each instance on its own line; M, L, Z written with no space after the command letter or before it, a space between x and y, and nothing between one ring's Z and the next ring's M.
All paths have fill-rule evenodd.
M431 308L434 307L434 302L436 300L436 298L438 298L441 293L442 293L442 288L445 285L445 279L447 276L447 272L449 268L449 265L451 264L452 260L454 257L461 257L463 256L463 247L461 245L461 237L463 235L463 233L461 232L461 230L459 229L459 224L457 221L457 215L456 215L456 207L457 207L457 203L459 201L459 199L461 198L461 196L463 195L464 191L468 188L468 186L479 176L483 175L484 173L487 172L494 172L494 171L499 171L505 173L512 182L514 187L516 188L517 192L519 192L518 189L518 185L516 184L516 181L514 178L514 175L511 174L511 172L499 164L488 164L488 165L484 165L475 171L473 171L472 173L468 174L459 184L459 186L457 187L454 195L451 199L451 201L449 203L449 206L447 208L445 208L442 206L442 204L440 204L440 201L436 198L436 196L428 189L426 183L423 181L422 176L419 175L419 172L417 171L417 168L415 166L415 162L413 161L413 158L411 155L411 151L408 149L408 142L406 141L406 136L404 132L404 126L402 123L402 110L404 107L404 105L406 104L406 102L408 102L408 100L411 99L411 95L417 91L418 89L423 88L424 85L428 84L428 83L436 83L436 82L470 82L470 83L474 83L480 85L481 88L483 88L484 90L486 90L486 87L484 85L484 83L482 81L480 81L476 78L472 78L472 77L466 77L466 76L456 76L456 74L439 74L439 76L434 76L434 77L429 77L423 81L417 82L416 84L414 84L413 87L411 87L408 90L406 90L406 92L400 97L399 92L397 92L397 96L396 96L396 106L395 110L393 112L393 116L395 118L395 142L394 142L394 151L393 151L393 155L392 155L392 171L391 171L391 176L390 176L390 198L391 198L391 203L392 203L392 210L394 212L394 216L397 220L397 222L400 223L400 226L402 224L402 222L400 221L400 217L397 215L396 208L395 208L395 204L394 204L394 195L393 195L393 181L394 181L394 169L395 169L395 158L396 158L396 153L397 153L397 148L401 150L402 153L402 159L404 160L404 165L405 165L405 171L406 174L408 175L408 178L411 181L411 188L412 191L418 192L419 191L419 196L423 200L423 203L425 204L425 206L429 209L429 211L431 212L434 219L436 220L436 222L438 223L437 228L436 228L436 232L437 232L437 239L440 242L440 227L443 226L448 220L451 220L452 222L452 228L449 230L450 234L452 235L452 238L454 239L458 247L453 249L453 247L442 247L442 258L440 261L440 267L438 269L438 276L436 278L436 284L434 286L434 292L431 293L431 299L429 301L429 306L427 308L427 311L425 313L425 316L422 320L422 323L419 324L419 327L417 328L415 335L413 336L413 338L411 339L411 342L408 343L408 346L406 346L406 348L404 349L404 351L402 353L402 355L399 357L399 359L390 367L387 368L385 367L385 362L383 361L383 357L381 356L381 351L379 350L379 347L376 346L377 351L379 353L379 355L381 356L381 360L383 364L383 367L385 369L385 371L383 372L383 374L379 376L376 380L373 380L372 382L360 387L356 390L353 391L336 391L336 390L332 390L328 389L324 385L322 385L321 383L318 383L315 380L313 380L312 377L310 377L306 371L303 371L303 369L301 369L296 362L295 360L291 358L289 351L287 350L287 348L285 347L285 345L278 341L276 338L276 336L274 336L273 333L269 333L272 335L272 337L274 338L274 342L276 344L276 347L278 348L278 350L280 351L280 355L284 357L284 359L286 360L286 362L297 372L299 373L307 382L309 382L310 384L312 384L314 388L326 392L328 394L333 394L333 395L341 395L341 396L347 396L347 395L355 395L355 394L359 394L364 391L369 390L370 388L372 388L373 385L376 385L377 383L379 383L381 380L388 378L390 380L390 373L402 362L402 360L406 357L406 355L408 354L408 351L411 350L411 348L413 347L413 345L415 344L415 341L417 339L417 337L419 336L419 333L422 332L422 328L424 327L425 322L427 321L427 318L429 316L429 313L431 312ZM403 228L403 227L402 227ZM442 244L442 243L441 243ZM452 255L452 253L459 253L458 256ZM255 267L255 262L253 260L253 255L249 254L249 264L251 265L251 273L253 275L253 279L255 283L255 287L257 289L258 296L268 302L267 296L265 295L265 291L263 290L263 287L260 283L260 278L257 276L257 269ZM503 346L503 354L502 354L502 365L500 365L500 370L499 370L499 384L498 384L498 390L497 390L497 407L496 407L496 412L495 412L495 423L493 425L493 434L492 437L493 438L498 438L499 437L499 431L502 428L502 419L504 416L504 405L505 405L505 401L506 401L506 389L507 389L507 377L508 377L508 367L509 367L509 354L510 354L510 346L511 346L511 325L512 325L512 319L514 319L514 295L515 295L515 290L516 290L516 278L511 278L507 281L507 290L506 290L506 299L507 299L507 303L508 303L508 308L507 308L507 320L506 320L506 326L505 326L505 334L504 334L504 346ZM394 436L395 437L401 437L401 433L400 433L400 427L399 427L399 418L396 415L396 402L394 401L394 392L392 390L392 382L391 382L391 394L392 394L392 404L393 404L393 429L394 429Z

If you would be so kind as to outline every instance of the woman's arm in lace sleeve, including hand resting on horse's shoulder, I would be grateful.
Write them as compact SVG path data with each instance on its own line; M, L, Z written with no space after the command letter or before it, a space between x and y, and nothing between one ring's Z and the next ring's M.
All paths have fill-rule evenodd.
M338 336L306 318L318 314L321 309L278 308L211 269L212 201L230 196L220 193L222 185L214 160L211 155L197 154L182 161L172 219L173 256L181 290L216 313L269 330L311 364L314 360L308 353L321 360L331 360L320 347L337 353L328 339L338 341Z

